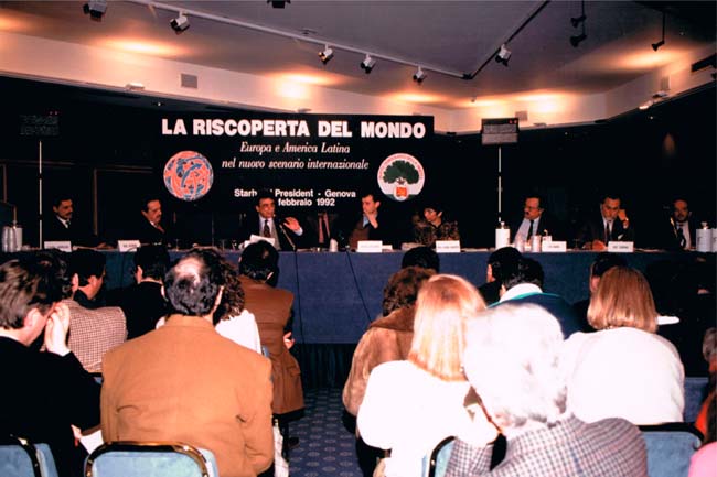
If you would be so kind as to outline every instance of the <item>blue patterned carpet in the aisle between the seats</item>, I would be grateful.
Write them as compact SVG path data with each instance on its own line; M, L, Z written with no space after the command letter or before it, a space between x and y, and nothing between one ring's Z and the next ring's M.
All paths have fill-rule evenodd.
M343 422L340 388L304 390L306 415L290 425L299 437L291 451L291 477L361 477L354 434Z

